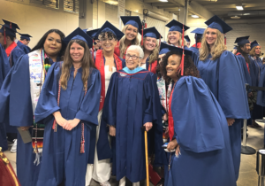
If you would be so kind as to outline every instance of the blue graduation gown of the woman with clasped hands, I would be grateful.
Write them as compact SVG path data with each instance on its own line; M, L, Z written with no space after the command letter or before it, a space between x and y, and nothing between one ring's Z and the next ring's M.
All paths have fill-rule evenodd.
M60 63L52 65L44 82L41 97L35 109L35 121L45 125L42 152L42 167L36 185L57 186L61 182L67 186L85 186L89 154L90 130L97 125L100 104L100 73L90 69L87 80L87 94L83 88L82 68L73 77L74 67L70 70L67 89L61 89L60 105L57 105ZM84 122L85 153L80 153L81 123L71 131L57 125L52 129L53 112L60 111L64 119L77 118Z

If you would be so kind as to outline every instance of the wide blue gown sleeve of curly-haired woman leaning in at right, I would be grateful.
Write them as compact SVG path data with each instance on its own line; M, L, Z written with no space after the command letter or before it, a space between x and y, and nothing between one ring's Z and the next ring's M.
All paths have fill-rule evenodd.
M205 82L186 76L178 80L172 94L174 132L180 147L196 153L224 148L221 107Z

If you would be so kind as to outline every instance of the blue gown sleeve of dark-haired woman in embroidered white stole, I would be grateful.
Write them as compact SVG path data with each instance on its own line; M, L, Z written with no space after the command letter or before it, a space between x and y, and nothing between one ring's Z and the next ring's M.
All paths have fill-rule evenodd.
M19 58L12 67L10 87L10 125L27 127L34 123L34 113L30 94L28 55Z

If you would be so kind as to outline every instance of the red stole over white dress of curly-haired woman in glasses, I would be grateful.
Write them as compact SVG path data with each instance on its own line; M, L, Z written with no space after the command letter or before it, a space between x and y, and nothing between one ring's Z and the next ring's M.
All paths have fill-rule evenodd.
M117 68L117 71L121 70L123 68L123 63L120 58L117 57L117 55L113 54L115 65ZM103 62L102 62L103 61ZM102 82L102 90L101 90L101 99L100 99L100 107L99 111L102 110L104 101L105 101L105 64L104 64L104 57L103 57L103 51L97 50L95 54L95 67L100 71L101 74L101 82Z

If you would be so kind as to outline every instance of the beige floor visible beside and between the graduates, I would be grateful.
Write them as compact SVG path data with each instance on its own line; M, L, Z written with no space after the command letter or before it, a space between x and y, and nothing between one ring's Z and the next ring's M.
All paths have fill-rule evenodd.
M253 147L256 150L263 148L264 138L264 124L261 124L262 128L248 128L247 145ZM11 165L16 171L16 153L10 151L4 151L5 155L10 159ZM241 166L238 186L254 186L258 185L258 175L256 173L256 154L254 155L241 155ZM111 177L111 185L116 186L115 178ZM98 186L97 182L91 182L91 186ZM144 185L144 184L143 184Z

